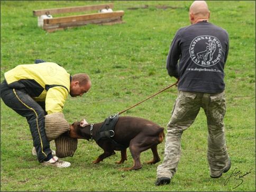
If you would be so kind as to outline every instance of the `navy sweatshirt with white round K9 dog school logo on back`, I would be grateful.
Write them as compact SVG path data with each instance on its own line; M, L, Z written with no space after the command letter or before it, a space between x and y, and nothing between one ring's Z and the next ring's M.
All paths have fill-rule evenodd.
M178 90L221 93L229 38L226 30L208 22L180 28L166 60L169 76L179 78Z

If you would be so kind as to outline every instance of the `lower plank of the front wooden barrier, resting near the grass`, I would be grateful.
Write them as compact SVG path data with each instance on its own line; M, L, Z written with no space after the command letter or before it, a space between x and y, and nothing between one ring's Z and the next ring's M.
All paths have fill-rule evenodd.
M84 26L87 24L97 24L97 25L114 25L125 23L122 20L122 17L110 17L110 18L102 18L102 19L94 19L94 20L86 20L86 21L74 21L74 22L66 22L66 23L58 23L58 24L44 24L43 29L47 32L53 32L57 30L63 30L65 28L72 28L74 26Z

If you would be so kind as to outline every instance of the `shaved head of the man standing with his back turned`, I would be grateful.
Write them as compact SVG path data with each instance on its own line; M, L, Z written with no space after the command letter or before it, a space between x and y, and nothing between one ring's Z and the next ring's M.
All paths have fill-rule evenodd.
M189 8L190 22L192 24L196 23L198 20L208 20L209 15L210 12L205 1L194 1Z

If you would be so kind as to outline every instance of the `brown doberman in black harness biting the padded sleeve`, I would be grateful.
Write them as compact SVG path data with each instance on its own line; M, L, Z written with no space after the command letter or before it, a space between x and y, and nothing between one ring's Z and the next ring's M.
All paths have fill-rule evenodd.
M109 121L109 118L107 119ZM147 161L147 164L154 164L160 161L157 145L164 139L164 128L160 125L145 120L140 117L120 116L116 119L116 124L112 128L101 130L105 122L88 124L86 120L74 122L71 126L69 136L71 138L95 140L100 148L104 150L93 163L98 163L103 159L115 154L115 151L121 151L121 160L116 163L123 163L127 160L126 149L129 147L134 161L133 167L118 170L138 170L142 168L140 154L142 151L151 148L153 160ZM110 120L112 121L112 120ZM103 133L107 134L103 134ZM101 135L101 136L99 136Z

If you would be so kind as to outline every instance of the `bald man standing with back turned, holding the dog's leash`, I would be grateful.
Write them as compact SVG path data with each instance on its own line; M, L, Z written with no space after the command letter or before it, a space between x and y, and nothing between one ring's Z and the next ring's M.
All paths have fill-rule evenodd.
M155 185L169 184L175 175L181 135L195 121L201 107L207 118L209 175L220 178L231 167L223 123L229 38L226 30L208 22L209 17L206 2L195 1L189 9L191 25L180 28L170 45L166 68L170 77L179 80L179 93L167 125L164 159L157 168Z

